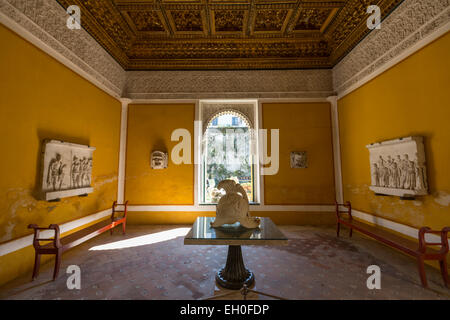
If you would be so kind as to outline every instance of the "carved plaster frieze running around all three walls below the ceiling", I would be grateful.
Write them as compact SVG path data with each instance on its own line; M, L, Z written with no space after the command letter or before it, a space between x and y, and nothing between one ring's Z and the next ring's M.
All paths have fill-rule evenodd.
M114 97L321 98L334 95L335 91L342 95L405 52L418 50L417 43L434 37L439 30L448 31L449 2L406 0L383 21L381 30L371 32L333 70L125 71L85 30L66 27L68 16L55 0L0 0L0 21ZM250 6L256 8L258 3L252 0ZM221 25L234 28L226 22ZM244 32L249 32L247 27ZM317 59L308 63L320 66L321 58ZM284 65L291 61L295 67L298 65L295 60L285 58ZM147 63L152 66L153 62ZM160 68L167 67L160 61L157 63ZM264 63L268 68L276 64L270 59L255 59L238 66L257 68Z

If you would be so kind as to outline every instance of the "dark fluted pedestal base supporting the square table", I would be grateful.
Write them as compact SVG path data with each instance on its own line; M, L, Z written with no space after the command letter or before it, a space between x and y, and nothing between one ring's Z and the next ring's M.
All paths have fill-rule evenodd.
M216 274L221 287L239 290L244 284L250 287L255 281L253 272L245 268L241 246L228 246L227 263Z

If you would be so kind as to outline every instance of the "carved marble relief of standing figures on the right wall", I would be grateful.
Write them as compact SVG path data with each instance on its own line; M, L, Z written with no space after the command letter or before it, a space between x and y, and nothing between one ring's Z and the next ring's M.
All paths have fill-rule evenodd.
M372 191L400 197L428 194L422 137L400 138L366 147L370 152Z

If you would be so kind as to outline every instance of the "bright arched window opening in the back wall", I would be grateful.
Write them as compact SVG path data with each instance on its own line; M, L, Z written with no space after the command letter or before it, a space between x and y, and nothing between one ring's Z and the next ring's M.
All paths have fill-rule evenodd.
M202 147L202 202L217 203L221 191L217 184L225 179L238 182L254 201L252 128L249 120L236 111L222 111L209 120Z

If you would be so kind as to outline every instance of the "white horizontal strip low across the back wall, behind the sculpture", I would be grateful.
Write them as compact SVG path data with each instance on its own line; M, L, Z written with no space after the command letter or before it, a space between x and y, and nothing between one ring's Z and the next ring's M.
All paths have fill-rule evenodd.
M215 212L215 205L129 205L128 212ZM334 212L333 205L250 205L252 211Z

